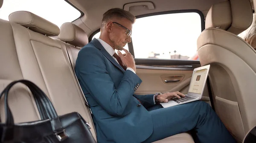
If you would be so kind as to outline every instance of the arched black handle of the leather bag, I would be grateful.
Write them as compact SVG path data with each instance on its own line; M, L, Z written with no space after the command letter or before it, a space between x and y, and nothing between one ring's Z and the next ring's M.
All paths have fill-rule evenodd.
M27 87L29 87L29 90L31 91L32 95L35 98L39 113L41 115L41 117L45 117L47 119L50 120L51 125L52 125L52 130L53 132L55 132L56 136L58 134L64 133L64 128L61 125L61 122L58 118L58 115L51 103L51 101L49 100L49 98L47 97L47 95L45 95L45 93L38 87L36 86L34 83L32 83L31 81L28 80L17 80L17 81L13 81L11 82L4 90L3 92L0 94L0 97L2 95L4 95L4 107L5 107L5 114L6 114L6 125L7 126L13 126L14 125L14 120L13 120L13 116L12 116L12 112L9 108L8 105L8 93L9 90L11 89L12 86L14 86L17 83L23 83L25 84ZM65 134L65 133L64 133Z

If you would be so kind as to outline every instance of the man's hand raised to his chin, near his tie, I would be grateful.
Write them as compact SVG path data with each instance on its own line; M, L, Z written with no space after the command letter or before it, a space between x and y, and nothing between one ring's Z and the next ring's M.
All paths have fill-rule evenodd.
M118 56L122 60L122 63L124 64L125 67L131 67L136 72L134 57L131 55L131 53L128 50L124 48L123 50L125 51L126 54L122 54L120 51L117 51Z

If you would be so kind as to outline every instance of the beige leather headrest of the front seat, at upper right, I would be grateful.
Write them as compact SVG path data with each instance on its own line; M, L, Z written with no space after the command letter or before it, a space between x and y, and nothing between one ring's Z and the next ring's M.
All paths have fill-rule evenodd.
M253 20L252 14L249 0L216 3L207 14L205 28L220 28L238 35L250 27Z

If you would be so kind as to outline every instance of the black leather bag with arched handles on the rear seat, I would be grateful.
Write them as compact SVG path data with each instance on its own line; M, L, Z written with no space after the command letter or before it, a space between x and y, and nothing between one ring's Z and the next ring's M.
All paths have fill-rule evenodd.
M16 83L23 83L32 92L41 120L14 124L8 106L8 92ZM10 83L0 94L4 95L6 123L0 123L1 143L96 143L86 121L77 112L58 116L45 93L31 81Z

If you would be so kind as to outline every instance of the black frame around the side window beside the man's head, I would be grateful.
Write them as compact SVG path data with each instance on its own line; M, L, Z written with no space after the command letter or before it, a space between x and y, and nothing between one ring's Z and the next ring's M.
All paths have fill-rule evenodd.
M162 11L162 12L155 12L150 14L142 14L136 16L136 19L143 18L143 17L149 17L149 16L155 16L155 15L163 15L163 14L176 14L176 13L197 13L199 14L201 18L201 32L205 29L205 19L204 14L202 11L198 9L185 9L185 10L174 10L174 11ZM89 36L89 42L92 40L93 36L100 32L100 28L96 31L94 31ZM200 64L199 60L186 60L186 59L142 59L142 58L136 58L134 55L134 48L132 44L132 37L131 42L128 43L129 52L134 56L134 60L136 65L148 65L148 66L194 66L195 64Z

